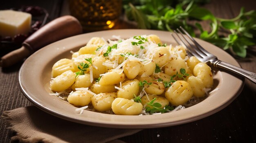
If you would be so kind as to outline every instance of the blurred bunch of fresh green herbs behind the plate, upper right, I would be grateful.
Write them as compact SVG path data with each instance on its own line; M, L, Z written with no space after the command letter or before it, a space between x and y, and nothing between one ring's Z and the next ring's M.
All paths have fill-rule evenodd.
M256 11L245 12L242 7L239 15L232 19L216 18L209 10L198 7L200 0L123 0L129 20L135 20L138 28L173 31L182 26L195 37L199 37L224 50L230 49L239 57L246 57L246 49L256 44ZM189 25L188 21L209 21L211 31L205 31L199 23ZM193 27L197 29L193 29ZM227 36L218 35L226 31Z

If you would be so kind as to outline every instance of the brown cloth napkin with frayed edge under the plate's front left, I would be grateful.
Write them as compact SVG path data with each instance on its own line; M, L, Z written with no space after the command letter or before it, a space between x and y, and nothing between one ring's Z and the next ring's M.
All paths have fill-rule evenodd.
M115 139L140 131L73 123L47 114L35 106L4 111L2 117L7 120L9 128L17 132L11 140L26 143L116 143L118 140Z

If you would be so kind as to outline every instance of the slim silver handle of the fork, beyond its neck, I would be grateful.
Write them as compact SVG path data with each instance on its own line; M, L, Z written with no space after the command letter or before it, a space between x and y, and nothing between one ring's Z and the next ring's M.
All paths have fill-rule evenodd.
M254 84L256 84L256 73L250 72L248 70L244 70L243 68L239 68L237 66L228 64L228 63L220 61L220 60L218 62L215 62L215 63L216 63L215 64L216 67L224 68L224 69L229 70L233 73L237 73L238 75L246 77L247 79L252 81Z

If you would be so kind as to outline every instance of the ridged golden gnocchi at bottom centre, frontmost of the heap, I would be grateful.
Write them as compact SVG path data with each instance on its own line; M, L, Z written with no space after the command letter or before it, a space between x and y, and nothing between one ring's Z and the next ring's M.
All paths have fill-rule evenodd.
M116 98L112 102L112 110L118 115L138 115L141 113L143 106L141 103L124 98Z

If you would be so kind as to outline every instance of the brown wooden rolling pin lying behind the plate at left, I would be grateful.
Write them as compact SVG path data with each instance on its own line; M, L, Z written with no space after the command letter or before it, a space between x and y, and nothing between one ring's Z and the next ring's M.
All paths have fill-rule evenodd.
M0 66L8 67L16 64L50 43L81 33L82 26L73 16L56 18L29 36L22 43L21 48L4 55L0 60Z

